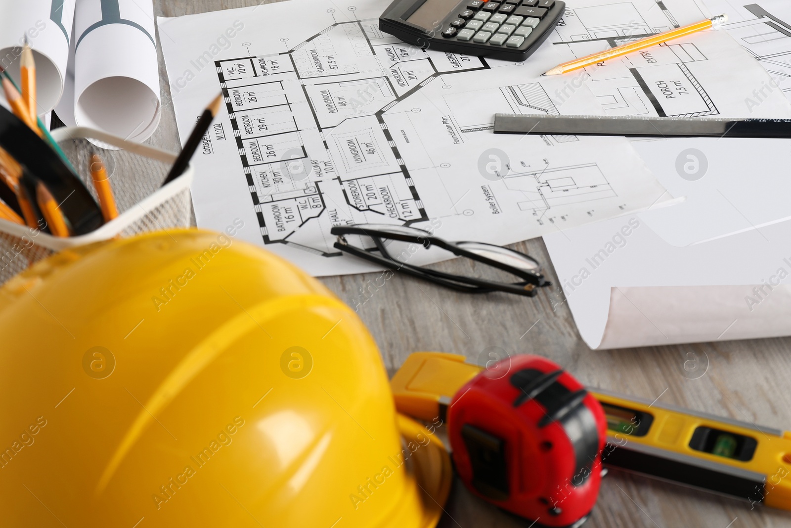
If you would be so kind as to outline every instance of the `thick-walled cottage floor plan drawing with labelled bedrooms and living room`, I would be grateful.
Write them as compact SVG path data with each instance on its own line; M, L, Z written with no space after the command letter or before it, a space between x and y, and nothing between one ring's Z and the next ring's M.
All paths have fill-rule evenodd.
M489 68L444 58L437 64L376 21L350 21L289 51L215 61L265 244L337 256L326 236L322 248L305 240L342 223L429 218L384 116L436 78Z

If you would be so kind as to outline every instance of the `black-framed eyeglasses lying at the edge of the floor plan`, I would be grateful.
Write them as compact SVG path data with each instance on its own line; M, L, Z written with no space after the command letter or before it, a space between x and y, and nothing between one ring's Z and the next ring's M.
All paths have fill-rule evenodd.
M407 275L417 277L418 279L428 280L430 282L440 284L441 286L449 287L456 291L464 291L466 293L487 293L490 291L504 291L507 293L534 297L538 293L536 287L551 285L551 283L547 282L547 280L544 279L543 275L528 272L520 268L509 266L508 264L503 264L498 260L490 259L486 256L481 256L478 253L471 252L457 245L457 244L463 244L464 242L448 242L440 237L433 236L428 231L418 229L417 227L409 227L409 229L422 231L422 233L425 233L425 235L424 234L411 235L405 233L397 233L389 230L379 230L375 227L366 227L366 226L367 224L356 224L350 226L333 227L330 233L338 237L338 240L334 244L335 249L339 249L344 253L350 253L351 255L358 256L365 260L369 260L370 262L380 264L385 268L390 268L395 271L404 272ZM397 229L400 226L394 226L394 227ZM347 234L357 234L365 237L370 237L373 240L374 245L376 245L376 248L379 251L379 253L381 253L381 256L377 255L376 253L373 253L370 250L366 250L355 247L354 245L350 245L346 241L346 238L344 237L344 235ZM464 256L466 258L475 260L482 264L489 265L493 268L501 269L502 271L509 272L512 275L517 275L517 277L520 277L521 279L524 280L518 283L498 283L486 279L477 279L475 277L467 277L463 275L453 275L450 273L439 272L437 270L432 270L429 268L414 266L413 264L407 264L405 262L401 262L400 260L396 260L395 258L393 258L390 255L390 253L388 253L388 250L384 246L382 239L398 240L403 242L410 242L413 244L420 244L426 249L429 249L431 245L436 245L438 248L445 249L446 251L449 251L450 253L453 253L456 256ZM500 251L505 249L509 252L516 253L520 257L526 256L530 260L533 260L534 262L536 262L536 264L538 264L536 259L532 258L532 256L528 256L525 255L524 253L514 251L513 249L502 248L501 246L486 244L484 242L475 242L475 244L488 245L492 248L497 248Z

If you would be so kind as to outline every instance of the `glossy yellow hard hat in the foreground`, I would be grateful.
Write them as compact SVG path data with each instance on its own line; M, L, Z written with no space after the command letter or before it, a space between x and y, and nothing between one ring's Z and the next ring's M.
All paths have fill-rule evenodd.
M451 467L315 279L228 233L66 250L0 288L2 526L434 526Z

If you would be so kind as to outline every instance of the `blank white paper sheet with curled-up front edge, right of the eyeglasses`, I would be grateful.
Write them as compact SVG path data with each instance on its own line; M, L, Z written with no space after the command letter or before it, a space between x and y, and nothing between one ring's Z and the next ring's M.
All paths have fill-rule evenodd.
M730 317L720 332L739 320L733 328L737 332L729 330L722 339L737 339L738 332L749 337L782 335L778 332L784 328L791 334L787 314L777 311L782 308L778 300L785 299L778 286L791 283L791 221L687 247L669 245L638 215L543 238L562 287L558 302L569 303L577 329L591 348L679 343L692 339L694 328L701 332L699 340L714 340L717 335L710 335L712 325L707 322L712 318L719 324ZM717 287L744 285L750 286L735 297L728 290L712 293ZM752 285L759 287L753 291ZM687 294L664 297L657 287ZM633 297L630 292L636 290L642 291ZM710 297L696 298L698 294ZM728 299L721 309L713 308L717 298ZM687 308L679 310L685 303ZM628 305L642 313L641 325L634 324L635 313L626 314L629 310L623 308ZM767 306L774 308L766 310ZM609 343L602 341L607 325ZM657 332L645 332L647 326Z

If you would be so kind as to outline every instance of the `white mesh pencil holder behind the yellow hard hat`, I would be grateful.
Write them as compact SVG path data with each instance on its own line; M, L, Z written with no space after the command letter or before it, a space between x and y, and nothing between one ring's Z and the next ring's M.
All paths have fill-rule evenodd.
M89 152L100 154L108 170L119 215L99 229L77 237L53 237L0 219L0 285L38 260L63 249L109 240L116 235L131 237L191 225L192 167L188 166L180 177L161 187L176 154L88 127L58 128L52 131L52 137L95 199L96 191L90 182ZM120 150L97 148L88 139L97 139Z

